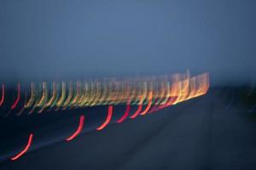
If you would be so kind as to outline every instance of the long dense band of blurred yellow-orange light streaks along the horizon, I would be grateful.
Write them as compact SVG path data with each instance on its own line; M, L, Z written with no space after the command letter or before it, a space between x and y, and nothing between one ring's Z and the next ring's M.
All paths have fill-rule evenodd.
M28 114L32 114L35 110L41 113L51 109L64 111L67 108L76 109L98 105L127 105L129 100L129 105L138 106L137 111L131 116L131 118L135 118L138 115L146 115L207 94L210 82L208 73L190 77L189 71L187 71L183 74L160 77L104 78L84 81L84 83L80 81L61 82L61 87L58 86L60 85L58 82L52 82L52 86L49 84L41 82L36 85L35 82L32 82L29 90L30 98L26 101L27 90L21 92L19 82L17 97L10 111L13 111L18 105L21 95L25 96L21 112L30 109ZM3 85L2 91L0 104L5 105L7 102L3 103L2 101L4 96L8 95L4 94ZM144 111L142 111L143 107ZM17 111L16 115L20 115L21 112ZM127 116L126 112L125 116Z

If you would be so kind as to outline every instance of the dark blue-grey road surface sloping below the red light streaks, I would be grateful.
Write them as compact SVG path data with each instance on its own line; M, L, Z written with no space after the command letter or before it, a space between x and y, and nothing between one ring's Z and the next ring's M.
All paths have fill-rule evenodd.
M18 161L2 161L0 169L253 170L256 114L250 108L236 89L211 89L155 114L84 132L68 143L43 144Z

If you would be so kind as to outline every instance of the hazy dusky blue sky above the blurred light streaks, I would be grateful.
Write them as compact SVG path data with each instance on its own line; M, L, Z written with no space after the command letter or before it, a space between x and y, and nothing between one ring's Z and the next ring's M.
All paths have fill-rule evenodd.
M1 0L2 80L256 76L256 1Z

